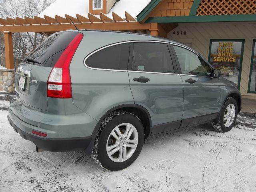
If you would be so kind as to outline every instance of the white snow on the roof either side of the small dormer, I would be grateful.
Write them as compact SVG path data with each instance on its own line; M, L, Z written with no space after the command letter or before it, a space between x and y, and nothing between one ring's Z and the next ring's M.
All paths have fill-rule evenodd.
M146 7L150 0L120 0L114 4L108 17L112 18L112 12L125 18L124 12L127 11L134 18ZM88 17L89 0L56 0L38 16L44 18L44 15L54 18L54 15L65 17L65 14L76 17L76 14Z

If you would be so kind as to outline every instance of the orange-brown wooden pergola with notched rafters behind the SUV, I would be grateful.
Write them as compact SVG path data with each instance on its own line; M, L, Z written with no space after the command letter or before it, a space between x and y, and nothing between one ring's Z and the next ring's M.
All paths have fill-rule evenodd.
M166 36L166 31L158 23L140 23L137 22L128 12L125 12L125 19L118 16L116 13L112 13L113 19L107 15L100 13L100 18L88 13L88 18L76 14L76 18L66 14L65 18L55 15L55 18L44 16L40 18L34 16L30 17L16 17L13 18L0 18L0 31L4 33L5 44L5 59L6 68L14 68L13 60L13 44L12 34L15 32L36 32L41 34L50 35L54 32L64 30L75 30L76 25L78 29L96 29L96 30L116 30L116 31L128 31L136 32L141 30L142 33L146 33L146 30L150 30L150 34L154 36ZM169 31L170 27L167 27Z

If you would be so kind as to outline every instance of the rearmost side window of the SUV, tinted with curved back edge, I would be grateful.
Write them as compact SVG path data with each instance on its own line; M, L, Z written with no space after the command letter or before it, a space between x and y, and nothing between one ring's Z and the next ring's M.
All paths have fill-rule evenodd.
M127 70L130 44L119 44L104 48L86 59L88 67L112 70Z

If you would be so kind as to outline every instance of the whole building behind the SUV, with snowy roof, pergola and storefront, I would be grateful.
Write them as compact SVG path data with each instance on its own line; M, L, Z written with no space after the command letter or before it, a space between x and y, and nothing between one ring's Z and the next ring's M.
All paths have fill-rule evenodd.
M242 96L256 99L256 0L56 0L34 18L0 19L0 31L8 31L8 44L10 32L73 29L70 18L79 29L135 32L182 42L233 81Z

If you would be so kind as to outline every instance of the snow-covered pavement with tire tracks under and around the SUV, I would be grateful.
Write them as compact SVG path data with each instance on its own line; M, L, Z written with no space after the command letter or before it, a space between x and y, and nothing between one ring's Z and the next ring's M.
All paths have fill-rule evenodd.
M118 172L83 152L36 153L0 110L0 191L246 191L256 188L256 114L240 114L227 133L210 124L150 138Z

